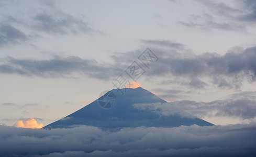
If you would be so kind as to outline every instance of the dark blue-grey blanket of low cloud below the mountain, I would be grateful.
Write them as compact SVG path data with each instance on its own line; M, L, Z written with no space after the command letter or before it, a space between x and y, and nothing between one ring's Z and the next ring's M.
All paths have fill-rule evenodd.
M1 156L253 156L255 125L25 129L0 126Z

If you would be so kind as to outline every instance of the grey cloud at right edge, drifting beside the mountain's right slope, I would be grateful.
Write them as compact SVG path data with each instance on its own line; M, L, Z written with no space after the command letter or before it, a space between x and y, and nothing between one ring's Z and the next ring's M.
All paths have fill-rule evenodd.
M248 94L248 96L245 94ZM182 100L180 102L172 102L172 104L198 117L224 116L237 117L243 120L256 117L255 92L237 93L225 100L215 100L209 103Z

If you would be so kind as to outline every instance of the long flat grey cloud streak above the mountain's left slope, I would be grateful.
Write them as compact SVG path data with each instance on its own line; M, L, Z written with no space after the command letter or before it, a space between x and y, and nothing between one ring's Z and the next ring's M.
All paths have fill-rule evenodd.
M81 59L79 57L62 58L55 56L50 60L15 59L7 57L6 64L0 65L0 73L20 74L41 77L72 77L80 73L102 80L115 77L120 68L108 64L99 64L94 59Z

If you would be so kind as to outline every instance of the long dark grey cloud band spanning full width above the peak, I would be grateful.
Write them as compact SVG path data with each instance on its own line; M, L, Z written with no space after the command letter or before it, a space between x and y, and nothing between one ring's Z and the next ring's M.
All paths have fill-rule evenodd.
M169 42L150 41L155 44ZM152 46L153 45L153 46ZM175 44L180 45L180 44ZM180 48L180 47L179 47ZM144 76L171 77L165 80L166 84L180 84L186 87L204 89L210 84L219 88L239 89L244 80L256 80L256 47L251 47L240 52L228 52L225 55L217 53L203 53L196 55L190 51L179 53L172 50L151 49L159 58L157 63L152 63ZM50 60L15 59L7 57L0 65L0 73L20 74L26 76L42 77L73 77L74 74L84 74L90 77L108 80L117 77L128 66L138 60L143 51L115 53L110 56L114 62L99 63L94 59L81 59L79 57L55 56ZM210 82L206 82L207 77Z

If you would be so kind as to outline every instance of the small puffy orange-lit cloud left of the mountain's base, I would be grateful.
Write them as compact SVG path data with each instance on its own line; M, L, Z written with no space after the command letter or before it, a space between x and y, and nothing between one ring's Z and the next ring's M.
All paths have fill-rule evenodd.
M37 120L35 118L30 118L28 120L24 120L24 121L18 121L16 122L14 125L14 127L18 127L18 128L32 128L32 129L40 129L43 127L43 124L38 124Z

